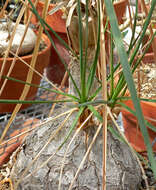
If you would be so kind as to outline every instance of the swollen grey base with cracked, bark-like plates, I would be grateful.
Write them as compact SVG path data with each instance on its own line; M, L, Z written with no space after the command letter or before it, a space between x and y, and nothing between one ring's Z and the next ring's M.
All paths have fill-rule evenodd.
M59 108L55 111L55 115L64 112L65 108ZM17 153L16 162L11 170L11 179L16 184L17 180L22 176L23 171L35 158L35 155L43 148L47 140L58 129L65 117L51 121L49 124L37 128L23 142L23 146ZM75 118L73 114L67 121L65 126L49 143L47 148L41 153L39 159L34 162L28 170L31 174L36 168L40 167L63 142L69 128ZM87 129L90 144L97 126ZM75 132L75 130L74 130ZM73 134L72 134L73 136ZM71 136L71 137L72 137ZM68 140L68 142L71 138ZM72 142L63 169L61 180L61 190L67 190L74 178L81 160L86 153L86 132L83 130L76 136ZM18 190L56 190L58 189L60 168L67 144L53 156L53 158L36 173L27 178L22 177L22 181L18 186ZM89 157L85 161L76 179L73 190L101 190L102 189L102 130L99 133ZM107 142L107 189L108 190L138 190L141 182L141 170L136 161L135 156L131 153L126 144L120 142L110 132L108 132Z

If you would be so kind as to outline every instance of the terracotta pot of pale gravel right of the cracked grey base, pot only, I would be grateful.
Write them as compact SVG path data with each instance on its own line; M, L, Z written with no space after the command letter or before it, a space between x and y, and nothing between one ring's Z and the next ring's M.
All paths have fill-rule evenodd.
M147 53L142 61L144 64L152 63L154 61L154 53ZM131 100L128 100L124 103L134 110ZM145 119L147 119L149 123L156 127L156 103L141 101L141 107ZM140 132L139 126L137 125L136 117L126 110L122 111L122 115L125 135L129 142L132 144L136 151L146 151L143 136ZM148 129L148 132L152 143L156 137L156 133L153 132L151 129ZM156 144L154 144L153 150L156 151Z

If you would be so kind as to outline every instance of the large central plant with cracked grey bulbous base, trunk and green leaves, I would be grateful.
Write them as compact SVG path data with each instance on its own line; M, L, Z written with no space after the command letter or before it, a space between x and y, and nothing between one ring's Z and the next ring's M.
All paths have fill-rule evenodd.
M38 16L31 1L29 3L33 13ZM153 5L155 4L153 0ZM148 131L131 75L130 66L134 69L133 53L138 52L138 49L130 47L128 52L125 51L113 4L105 0L111 26L111 50L114 41L120 57L120 62L115 66L111 54L111 68L108 74L104 59L104 41L100 39L104 37L103 20L100 20L104 13L102 1L90 10L96 12L94 18L88 11L88 5L87 2L78 1L77 11L72 15L68 28L71 41L74 41L72 34L76 34L79 39L76 44L72 44L77 54L72 54L71 67L70 70L67 69L70 77L69 93L64 94L66 98L61 100L68 103L54 110L53 118L47 119L43 126L27 136L21 149L15 152L14 156L17 159L11 165L9 175L15 188L101 189L103 184L103 189L120 189L121 186L126 189L138 189L141 182L138 159L128 143L123 143L126 140L114 127L117 126L115 116L119 114L125 99L127 85L148 147L151 166L156 172ZM152 11L153 8L150 12ZM39 16L38 18L45 28L43 19ZM150 18L149 15L147 22ZM95 27L95 31L92 23L95 23L93 26L98 26ZM146 29L145 25L140 38L144 36ZM95 41L92 40L93 32L96 34ZM140 43L141 40L136 47ZM98 58L103 66L100 70L102 82L95 75ZM120 78L115 83L118 69Z

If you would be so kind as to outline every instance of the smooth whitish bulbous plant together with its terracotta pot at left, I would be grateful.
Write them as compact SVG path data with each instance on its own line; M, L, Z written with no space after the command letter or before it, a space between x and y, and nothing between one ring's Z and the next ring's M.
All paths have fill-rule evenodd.
M14 55L16 53L16 50L19 47L20 40L22 39L22 36L25 31L25 26L22 24L19 24L15 37L11 46L11 52L13 54L9 54L6 58L3 58L5 51L7 50L8 44L9 44L9 35L12 35L13 28L15 26L12 21L9 23L9 29L7 28L7 23L4 22L1 24L1 40L0 40L0 45L1 45L1 58L0 58L0 70L1 70L1 80L0 80L0 88L1 88L1 95L0 99L14 99L18 100L19 97L21 96L21 93L24 89L24 84L16 82L16 81L11 81L7 80L6 81L6 76L8 76L8 72L10 72L8 77L15 78L17 80L21 80L23 82L26 81L27 74L29 71L29 67L26 65L30 65L30 62L32 60L32 51L35 47L36 43L36 35L33 32L32 29L28 29L27 35L23 41L23 46L19 51L18 56L15 62L14 62ZM38 53L37 60L36 60L36 66L35 69L38 71L40 74L43 74L44 68L48 65L49 63L49 57L50 57L50 41L46 35L43 34L42 36L42 46L40 52ZM26 64L25 64L26 62ZM12 69L11 69L12 67ZM11 69L11 71L10 71ZM34 73L33 74L33 79L32 83L39 85L40 84L41 77ZM4 82L6 84L4 85ZM2 88L4 90L2 90ZM36 87L30 87L29 93L26 97L27 100L33 100L36 96L37 93L37 88ZM0 106L0 113L4 112L12 112L16 104L1 104ZM25 104L22 106L23 108L26 108L29 106L29 104Z

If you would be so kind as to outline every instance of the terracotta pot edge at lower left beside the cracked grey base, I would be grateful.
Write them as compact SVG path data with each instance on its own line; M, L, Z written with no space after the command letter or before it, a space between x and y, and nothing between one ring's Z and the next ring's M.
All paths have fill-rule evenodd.
M19 135L21 133L27 132L29 129L33 129L33 128L37 127L37 123L39 123L39 120L34 119L34 118L25 121L23 124L23 128L14 131L10 135L10 138L15 137L16 135ZM4 146L2 145L0 147L0 166L2 166L3 164L5 164L9 161L12 153L21 145L22 140L27 135L28 135L28 133L25 133L17 138L10 140ZM5 141L2 144L4 144L4 143L5 143Z

